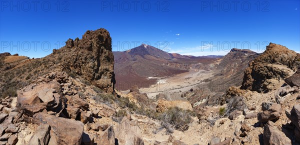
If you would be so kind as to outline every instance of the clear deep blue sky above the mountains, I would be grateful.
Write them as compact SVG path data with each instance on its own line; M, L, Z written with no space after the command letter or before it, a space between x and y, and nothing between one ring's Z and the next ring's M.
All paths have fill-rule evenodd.
M142 42L168 52L262 52L269 42L300 51L299 0L0 1L0 52L43 57L68 38L103 27L114 51Z

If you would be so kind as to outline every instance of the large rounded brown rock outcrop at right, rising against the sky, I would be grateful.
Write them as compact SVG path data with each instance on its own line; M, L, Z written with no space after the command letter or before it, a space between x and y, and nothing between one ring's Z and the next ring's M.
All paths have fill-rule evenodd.
M270 43L266 50L256 57L244 71L241 89L258 92L275 88L278 79L289 76L297 68L297 53L285 46Z

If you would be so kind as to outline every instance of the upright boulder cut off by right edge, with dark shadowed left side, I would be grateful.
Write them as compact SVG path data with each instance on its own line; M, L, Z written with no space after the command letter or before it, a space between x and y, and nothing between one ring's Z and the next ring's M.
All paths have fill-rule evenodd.
M291 110L285 110L286 116L300 130L300 104L295 104Z

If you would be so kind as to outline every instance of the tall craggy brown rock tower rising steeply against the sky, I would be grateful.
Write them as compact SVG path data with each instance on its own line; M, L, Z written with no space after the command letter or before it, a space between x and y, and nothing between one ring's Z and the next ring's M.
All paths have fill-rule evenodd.
M68 39L64 47L53 50L64 68L81 75L106 92L114 89L111 37L106 29L87 30L81 39Z

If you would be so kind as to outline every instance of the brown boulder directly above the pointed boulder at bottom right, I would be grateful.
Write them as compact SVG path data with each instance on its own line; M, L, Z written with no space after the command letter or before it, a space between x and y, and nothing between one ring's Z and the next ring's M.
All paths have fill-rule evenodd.
M269 109L259 112L257 114L257 120L260 122L266 122L268 120L277 119L280 117L281 105L280 104L272 104Z

